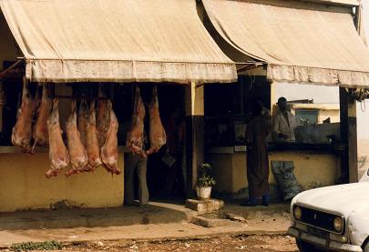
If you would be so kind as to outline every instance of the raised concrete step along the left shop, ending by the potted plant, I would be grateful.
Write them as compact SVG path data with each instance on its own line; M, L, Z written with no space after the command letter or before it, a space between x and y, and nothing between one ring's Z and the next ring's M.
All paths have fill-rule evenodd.
M189 222L197 213L182 205L150 202L149 207L56 209L0 214L0 230L111 227Z

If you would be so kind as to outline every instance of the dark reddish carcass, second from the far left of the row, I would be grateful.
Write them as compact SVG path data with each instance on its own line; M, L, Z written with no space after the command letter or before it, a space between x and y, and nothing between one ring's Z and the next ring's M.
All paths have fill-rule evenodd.
M48 146L48 129L47 118L50 116L53 108L53 101L50 97L50 86L44 85L42 89L41 104L37 108L36 123L33 128L34 146L32 150L35 151L36 145Z

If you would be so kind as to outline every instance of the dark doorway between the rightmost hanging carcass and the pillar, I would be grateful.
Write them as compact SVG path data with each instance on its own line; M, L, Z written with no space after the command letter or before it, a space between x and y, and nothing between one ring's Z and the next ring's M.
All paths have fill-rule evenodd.
M149 104L152 85L142 85L140 91L144 102ZM185 198L187 173L184 158L185 87L174 84L158 85L158 96L160 117L167 133L167 145L149 156L149 195L150 199L181 199ZM149 129L149 121L146 128ZM169 166L171 162L168 159L171 158L175 161Z

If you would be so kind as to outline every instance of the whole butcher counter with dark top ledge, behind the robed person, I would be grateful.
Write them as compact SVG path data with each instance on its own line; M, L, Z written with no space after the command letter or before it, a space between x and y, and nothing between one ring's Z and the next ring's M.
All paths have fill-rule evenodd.
M340 147L330 144L279 143L269 145L269 161L293 161L294 175L305 189L334 185L340 175ZM246 146L212 146L206 150L217 181L214 191L232 197L248 197ZM272 165L270 165L272 167ZM272 168L272 197L279 197Z

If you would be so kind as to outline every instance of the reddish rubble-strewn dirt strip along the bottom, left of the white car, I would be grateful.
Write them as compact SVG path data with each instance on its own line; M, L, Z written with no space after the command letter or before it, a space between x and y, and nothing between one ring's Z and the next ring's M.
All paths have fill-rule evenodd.
M94 244L75 244L63 248L63 251L298 251L294 239L282 235L262 236L223 236L191 240L149 241L149 242L95 242Z

